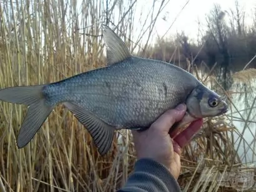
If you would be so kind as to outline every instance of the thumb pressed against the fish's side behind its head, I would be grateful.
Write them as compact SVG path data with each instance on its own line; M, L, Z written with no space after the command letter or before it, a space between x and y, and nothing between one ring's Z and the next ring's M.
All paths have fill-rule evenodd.
M162 114L154 123L152 123L150 128L157 128L164 132L169 132L170 127L172 127L175 122L182 120L186 110L186 105L180 104L175 109L168 110Z

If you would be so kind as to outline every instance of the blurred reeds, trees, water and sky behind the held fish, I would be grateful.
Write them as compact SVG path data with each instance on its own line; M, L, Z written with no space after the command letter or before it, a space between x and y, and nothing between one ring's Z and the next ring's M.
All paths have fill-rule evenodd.
M164 60L223 95L182 151L182 191L256 191L256 2L253 0L0 1L0 88L56 82L106 65L101 24L133 55ZM0 102L0 191L116 191L133 170L128 130L100 156L62 105L16 146L26 106Z

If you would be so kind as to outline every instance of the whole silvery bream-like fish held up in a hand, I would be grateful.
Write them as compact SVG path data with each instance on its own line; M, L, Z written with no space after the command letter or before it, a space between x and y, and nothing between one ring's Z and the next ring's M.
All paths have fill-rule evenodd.
M187 111L175 128L227 112L224 99L186 70L132 55L121 37L104 24L102 34L106 66L49 84L0 90L3 102L28 107L17 135L18 148L31 142L57 105L64 105L87 128L101 155L110 150L116 130L147 130L180 103L187 105Z

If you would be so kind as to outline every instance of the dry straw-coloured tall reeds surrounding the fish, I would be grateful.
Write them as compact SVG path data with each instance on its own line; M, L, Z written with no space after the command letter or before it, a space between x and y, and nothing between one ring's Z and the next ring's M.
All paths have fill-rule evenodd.
M115 29L131 52L147 49L155 21L169 1L153 1L152 9L142 10L139 29L134 26L136 3L1 1L0 87L47 84L104 66L102 23ZM137 30L139 36L134 37ZM127 130L118 133L121 138L116 135L106 156L100 156L86 128L59 105L33 140L18 149L16 137L26 110L0 103L1 191L114 191L124 185L135 162ZM182 152L179 182L185 191L218 190L218 182L201 182L200 176L209 175L211 168L224 174L242 165L228 137L235 131L232 120L224 123L221 118L206 119L204 132Z

